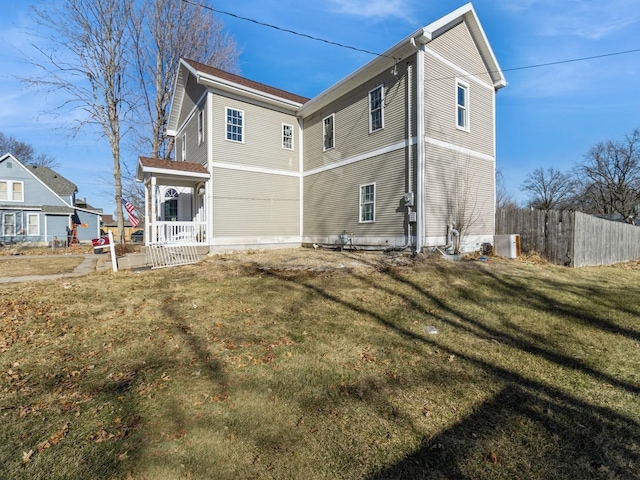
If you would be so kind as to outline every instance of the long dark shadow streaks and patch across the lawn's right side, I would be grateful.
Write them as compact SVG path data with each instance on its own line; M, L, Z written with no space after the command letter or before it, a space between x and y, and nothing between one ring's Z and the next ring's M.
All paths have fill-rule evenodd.
M442 275L450 274L446 268L440 270ZM277 272L271 274L278 276ZM357 278L378 291L400 297L418 315L447 324L452 331L463 330L489 341L499 339L511 348L540 357L558 367L577 370L597 382L612 385L630 394L640 393L638 385L599 371L581 359L547 348L544 336L532 335L517 324L511 324L509 331L473 318L456 308L455 302L451 301L456 295L464 295L465 292L459 289L452 289L444 298L397 273L393 268L385 271L385 274L384 278L391 280L391 284L386 280L377 281L375 276L360 275ZM556 299L540 291L525 292L523 285L518 282L508 281L492 273L483 274L487 281L493 282L495 292L511 297L514 302L524 302L534 308L552 309L554 314L560 313L568 320L588 324L607 333L621 333L631 339L637 338L638 333L634 330L621 328L591 315L586 310L587 307L576 310L573 305L558 305ZM395 286L390 286L394 284ZM362 304L339 298L313 282L303 281L301 285L331 302L375 319L401 337L419 344L432 345L455 355L505 384L500 393L477 407L472 415L434 439L423 439L421 448L396 465L373 474L371 479L574 479L612 476L631 479L640 476L640 424L636 420L527 378L518 371L488 363L475 352L457 350L439 343L431 336L416 334ZM407 293L403 286L419 294L418 299ZM437 306L435 312L423 305L424 299ZM485 300L479 299L479 304L490 312L491 304ZM502 315L497 310L493 314ZM507 448L509 450L505 450Z

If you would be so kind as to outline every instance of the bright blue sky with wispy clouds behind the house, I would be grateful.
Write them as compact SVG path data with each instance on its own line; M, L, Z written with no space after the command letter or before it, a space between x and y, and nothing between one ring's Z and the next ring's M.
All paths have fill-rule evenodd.
M13 75L33 68L25 27L29 5L0 0L0 131L58 161L79 197L114 210L112 159L105 139L68 136L45 112L63 100L25 89ZM209 5L345 45L384 52L463 1L216 0ZM497 166L507 189L538 167L569 170L594 144L640 127L640 52L525 68L640 49L640 0L478 0L473 2L509 85L497 96ZM205 12L205 14L208 14ZM242 49L241 74L313 97L371 60L371 56L219 15ZM519 70L511 70L519 69ZM427 73L428 75L428 73ZM134 165L139 154L125 152Z

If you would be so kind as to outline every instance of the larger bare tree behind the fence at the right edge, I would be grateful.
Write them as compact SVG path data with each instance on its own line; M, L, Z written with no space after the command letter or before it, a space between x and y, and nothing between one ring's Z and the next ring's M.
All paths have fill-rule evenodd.
M633 223L640 206L640 130L592 147L576 174L582 202L593 213Z

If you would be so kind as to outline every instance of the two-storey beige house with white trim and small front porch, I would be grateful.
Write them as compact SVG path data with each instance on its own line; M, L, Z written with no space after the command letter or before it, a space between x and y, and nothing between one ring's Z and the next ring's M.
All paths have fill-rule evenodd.
M471 4L312 99L183 59L175 161L141 158L147 239L210 251L492 242L495 95Z

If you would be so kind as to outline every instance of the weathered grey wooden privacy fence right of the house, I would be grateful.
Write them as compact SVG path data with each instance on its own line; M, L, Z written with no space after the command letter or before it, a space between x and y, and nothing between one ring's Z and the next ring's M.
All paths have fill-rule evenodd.
M586 267L640 259L640 227L581 212L498 209L496 235L519 234L524 253Z

